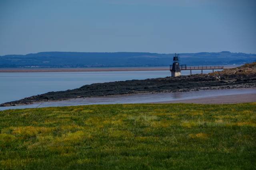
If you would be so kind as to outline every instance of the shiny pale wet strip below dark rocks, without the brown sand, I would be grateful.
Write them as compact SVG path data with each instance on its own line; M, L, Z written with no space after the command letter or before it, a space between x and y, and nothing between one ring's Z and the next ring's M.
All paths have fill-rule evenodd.
M70 100L54 101L54 102L38 102L30 105L6 106L0 107L0 110L6 109L24 109L38 107L57 107L57 106L79 106L92 104L135 104L135 103L157 103L172 102L180 100L191 100L200 98L210 98L215 96L228 96L239 94L255 94L256 88L238 88L223 90L199 90L190 92L168 92L168 93L140 93L125 94L114 96L97 96L87 98L76 98ZM241 101L242 102L242 101Z

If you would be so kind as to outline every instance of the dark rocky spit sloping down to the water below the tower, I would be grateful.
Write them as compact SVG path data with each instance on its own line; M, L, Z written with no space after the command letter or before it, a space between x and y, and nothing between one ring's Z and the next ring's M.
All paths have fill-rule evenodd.
M219 78L220 77L220 78ZM210 74L152 78L146 80L126 80L85 85L73 90L48 92L31 96L0 106L15 106L33 102L65 100L91 96L132 94L143 92L186 92L200 89L226 89L256 87L256 63L245 64L232 69Z

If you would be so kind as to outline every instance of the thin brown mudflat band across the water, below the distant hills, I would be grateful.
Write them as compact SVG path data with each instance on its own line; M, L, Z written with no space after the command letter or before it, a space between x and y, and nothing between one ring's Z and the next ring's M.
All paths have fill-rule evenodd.
M235 68L224 66L224 69ZM99 67L99 68L0 68L0 72L106 72L106 71L169 71L168 66L156 67Z

